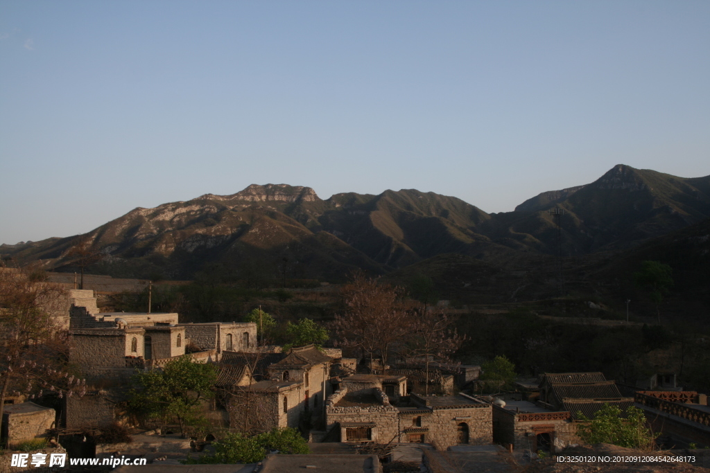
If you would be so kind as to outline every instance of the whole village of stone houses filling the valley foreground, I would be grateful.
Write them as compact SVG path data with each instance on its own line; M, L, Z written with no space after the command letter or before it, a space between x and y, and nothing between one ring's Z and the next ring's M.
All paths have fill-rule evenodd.
M710 461L707 397L684 391L672 373L638 386L618 385L601 372L542 373L515 379L512 388L501 383L498 391L493 382L491 392L481 389L491 381L478 365L428 353L383 364L346 346L313 343L284 350L261 343L258 322L183 323L179 313L102 312L97 295L67 289L53 309L69 334L68 361L82 374L80 390L62 396L51 386L31 398L8 393L2 433L11 450L45 439L48 452L56 447L70 457L121 455L147 463L116 471L179 471L188 457L212 452L224 433L291 428L309 454L268 455L239 471L304 465L332 472L513 471L510 464L584 445L580 426L602 409L626 413L635 406L665 450L675 452L668 455L692 452L698 466ZM136 416L130 408L136 373L167 372L185 360L214 367L214 396L195 398L202 423ZM102 443L99 433L116 426L130 430L130 438ZM202 468L190 471L222 471Z

